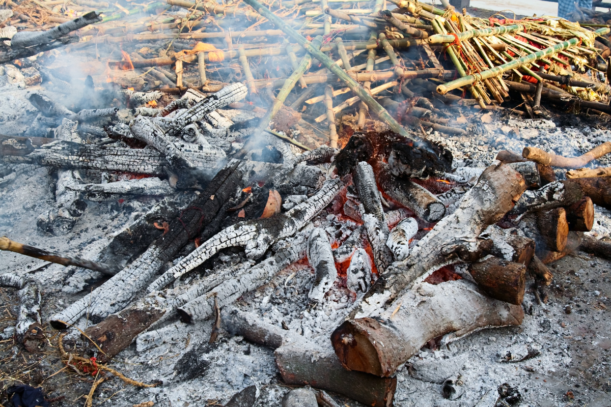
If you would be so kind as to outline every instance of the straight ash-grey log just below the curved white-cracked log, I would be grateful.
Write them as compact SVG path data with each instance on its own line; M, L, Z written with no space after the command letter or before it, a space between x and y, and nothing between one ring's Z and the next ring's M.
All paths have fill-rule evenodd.
M205 320L214 315L214 300L218 306L226 306L247 292L260 287L284 268L304 258L307 240L304 236L287 239L286 247L274 256L260 262L248 273L224 281L207 294L201 295L178 308L180 320L186 323Z

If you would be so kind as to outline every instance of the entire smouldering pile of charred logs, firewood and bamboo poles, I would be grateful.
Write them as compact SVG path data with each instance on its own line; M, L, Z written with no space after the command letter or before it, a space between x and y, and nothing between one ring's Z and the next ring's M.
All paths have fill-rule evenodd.
M485 165L456 159L492 114L611 114L609 27L408 0L4 5L0 70L34 109L0 127L0 187L49 168L54 203L32 222L62 239L96 205L148 200L93 259L0 239L87 287L51 311L27 272L0 275L19 290L16 343L59 340L78 374L156 386L108 364L180 344L172 378L189 380L198 351L235 335L274 350L299 387L283 406L334 406L325 391L390 406L423 347L521 325L567 254L611 258L591 232L611 209L608 136L517 154L503 127Z

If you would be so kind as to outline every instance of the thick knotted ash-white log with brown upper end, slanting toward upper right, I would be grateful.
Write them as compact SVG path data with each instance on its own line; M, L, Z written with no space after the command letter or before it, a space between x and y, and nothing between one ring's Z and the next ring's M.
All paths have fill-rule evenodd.
M478 236L498 222L525 189L524 178L508 165L486 168L477 184L464 195L456 212L437 222L412 248L408 259L393 263L367 292L353 315L378 314L402 290L423 281L440 267L480 258L492 245Z

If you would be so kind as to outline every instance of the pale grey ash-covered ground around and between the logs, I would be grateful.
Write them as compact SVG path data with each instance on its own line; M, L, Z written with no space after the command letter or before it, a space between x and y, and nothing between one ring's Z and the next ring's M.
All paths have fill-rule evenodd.
M19 135L20 126L35 113L27 101L31 90L19 90L4 83L0 92L0 132ZM525 120L504 112L482 114L462 109L464 114L455 110L456 119L464 116L469 121L467 136L430 134L431 140L443 143L452 151L456 167L486 167L500 149L519 153L524 146L538 146L574 156L611 141L606 119L585 113L557 112L551 120ZM611 157L605 157L595 164L608 166L610 161ZM37 168L2 187L0 234L48 250L95 258L114 234L157 201L141 198L122 203L89 203L73 231L56 237L44 234L36 226L38 215L55 205L53 184L52 171ZM188 193L179 195L175 199L186 204ZM337 217L327 211L313 223L335 230L336 236L348 233L350 228L345 223L340 225ZM590 234L601 237L610 233L611 213L596 207L595 227ZM245 261L244 254L232 249L221 253L211 265L224 267L240 261ZM497 387L507 383L520 392L522 406L611 406L611 372L607 364L611 349L610 265L609 261L585 253L575 253L555 262L551 265L554 282L548 287L549 300L538 304L533 293L528 292L522 326L483 330L441 349L434 345L423 348L397 373L395 405L492 406ZM66 285L70 277L68 270L57 264L0 252L0 273L28 274L40 282L43 321L97 286L74 292L73 287ZM191 278L198 277L189 276L177 285L188 284ZM351 300L346 289L336 284L329 298L312 308L307 298L312 280L312 269L306 262L299 262L283 270L269 284L241 297L235 306L324 344ZM0 289L2 390L16 381L40 384L47 397L54 399L53 406L83 405L82 395L89 392L93 378L64 369L57 351L57 331L47 328L50 339L44 354L29 355L13 345L10 338L16 303L16 290ZM115 357L111 366L134 380L146 383L161 380L163 385L137 389L112 378L99 387L93 405L131 406L149 401L155 406L224 405L236 392L256 386L256 401L246 405L280 406L282 395L290 387L280 380L273 350L226 331L221 331L216 342L209 345L212 324L212 320L192 325L169 320L163 326L155 326L153 329L161 330L172 340L161 344L134 343ZM85 328L86 322L81 322L79 327ZM66 344L78 345L78 331L70 332L65 338ZM539 353L516 361L529 350L531 355ZM507 359L508 351L514 362L501 361ZM461 397L446 400L441 394L441 384L415 378L425 376L436 365L455 370L459 375ZM60 369L64 370L57 373ZM428 378L435 379L434 375ZM357 406L346 398L337 397L337 400L340 405ZM9 405L5 392L0 395L0 403Z

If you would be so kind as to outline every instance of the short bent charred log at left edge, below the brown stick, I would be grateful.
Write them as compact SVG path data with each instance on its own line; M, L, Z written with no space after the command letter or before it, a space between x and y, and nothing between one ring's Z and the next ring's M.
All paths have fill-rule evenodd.
M15 338L30 353L43 351L46 337L40 320L40 287L32 279L15 273L0 275L0 286L18 289L19 314L15 326Z

